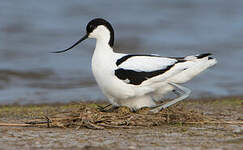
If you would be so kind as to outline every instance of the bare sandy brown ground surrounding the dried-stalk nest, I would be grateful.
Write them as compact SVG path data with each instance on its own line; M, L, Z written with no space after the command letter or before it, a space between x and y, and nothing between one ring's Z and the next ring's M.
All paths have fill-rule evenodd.
M243 100L187 101L186 109L199 110L207 117L227 122L243 121ZM31 107L31 109L29 109ZM21 122L36 114L56 109L71 110L70 106L1 106L0 122ZM33 109L34 108L34 109ZM13 111L15 110L15 111ZM23 112L22 114L20 112ZM0 127L0 150L17 149L243 149L243 125L230 124L171 124L93 130L56 127Z

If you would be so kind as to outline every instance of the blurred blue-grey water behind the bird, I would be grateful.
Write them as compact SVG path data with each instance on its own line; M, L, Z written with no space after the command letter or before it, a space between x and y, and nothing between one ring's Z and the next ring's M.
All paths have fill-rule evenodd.
M70 46L94 17L109 20L120 52L184 56L212 52L217 66L186 84L192 96L242 95L243 1L1 0L0 103L98 100L94 40Z

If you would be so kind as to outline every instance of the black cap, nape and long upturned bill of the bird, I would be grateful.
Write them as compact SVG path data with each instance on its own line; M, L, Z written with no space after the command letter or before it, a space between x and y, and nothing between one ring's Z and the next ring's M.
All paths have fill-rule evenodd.
M66 52L70 49L72 49L73 47L75 47L76 45L78 45L79 43L81 43L82 41L84 41L85 39L87 39L88 37L90 38L95 38L95 36L92 36L92 34L94 34L95 31L97 31L96 29L99 26L104 26L110 33L109 36L109 45L110 47L113 47L114 45L114 30L111 26L111 24L106 21L105 19L102 18L95 18L93 20L91 20L87 26L86 26L86 35L84 35L79 41L77 41L76 43L74 43L71 47L65 49L65 50L61 50L61 51L55 51L53 53L62 53L62 52ZM103 28L104 29L104 28ZM106 30L105 29L105 30ZM107 31L106 30L106 31ZM101 31L102 32L102 31ZM107 33L107 32L106 32ZM107 35L107 34L106 34Z

